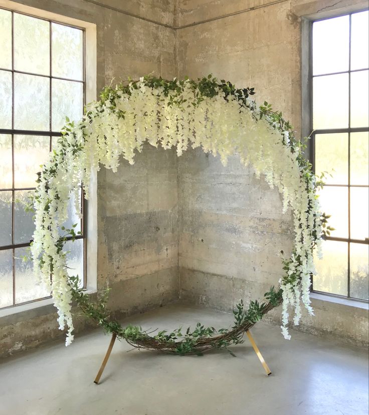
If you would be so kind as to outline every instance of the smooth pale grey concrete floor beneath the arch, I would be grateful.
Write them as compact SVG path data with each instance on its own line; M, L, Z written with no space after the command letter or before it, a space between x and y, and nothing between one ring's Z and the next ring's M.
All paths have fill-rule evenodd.
M232 316L185 305L165 306L130 323L145 329L198 321L228 327ZM273 374L266 377L247 339L227 352L178 357L115 344L101 383L93 379L109 337L101 330L3 360L1 415L364 415L367 352L258 323L252 330Z

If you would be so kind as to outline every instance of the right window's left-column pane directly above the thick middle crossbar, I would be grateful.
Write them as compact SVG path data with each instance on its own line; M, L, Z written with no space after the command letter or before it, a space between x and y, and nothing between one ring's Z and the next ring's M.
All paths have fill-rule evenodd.
M313 78L313 128L348 127L348 74Z

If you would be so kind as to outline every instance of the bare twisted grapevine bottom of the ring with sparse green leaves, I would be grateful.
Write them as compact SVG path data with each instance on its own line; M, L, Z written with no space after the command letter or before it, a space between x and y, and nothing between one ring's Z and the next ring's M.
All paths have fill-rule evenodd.
M141 327L129 325L123 328L119 322L109 318L105 306L108 289L104 290L96 302L92 302L88 294L78 289L77 278L71 278L71 285L73 286L73 299L83 314L95 321L107 333L111 333L118 339L125 340L139 349L157 350L178 355L202 355L212 349L227 349L232 344L243 343L244 333L282 302L282 290L276 291L274 287L271 287L270 291L264 294L265 302L251 301L248 309L244 308L242 300L236 305L233 312L235 321L232 328L216 330L214 327L204 327L198 323L193 331L190 327L186 331L180 327L171 333L163 330L155 336L150 336L142 331ZM231 351L230 353L232 354Z

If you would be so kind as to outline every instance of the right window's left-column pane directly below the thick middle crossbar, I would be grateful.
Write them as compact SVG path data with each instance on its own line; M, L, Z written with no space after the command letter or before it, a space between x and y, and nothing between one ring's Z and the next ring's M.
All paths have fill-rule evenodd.
M316 134L315 172L327 184L348 184L348 134Z

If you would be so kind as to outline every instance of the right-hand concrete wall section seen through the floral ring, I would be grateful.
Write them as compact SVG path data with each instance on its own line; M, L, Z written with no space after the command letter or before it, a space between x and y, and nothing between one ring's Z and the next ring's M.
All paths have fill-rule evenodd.
M178 186L182 298L230 310L277 284L278 253L288 254L293 242L278 192L237 156L223 167L201 149L178 159Z

